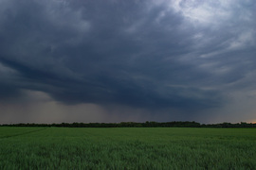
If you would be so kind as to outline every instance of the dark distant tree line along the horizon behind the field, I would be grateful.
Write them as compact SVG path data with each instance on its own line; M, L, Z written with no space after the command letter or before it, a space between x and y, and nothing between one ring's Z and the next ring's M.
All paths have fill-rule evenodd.
M200 124L197 122L153 122L147 121L144 123L137 122L120 122L120 123L62 123L62 124L3 124L1 127L256 127L256 124L241 122L231 124L224 122L221 124Z

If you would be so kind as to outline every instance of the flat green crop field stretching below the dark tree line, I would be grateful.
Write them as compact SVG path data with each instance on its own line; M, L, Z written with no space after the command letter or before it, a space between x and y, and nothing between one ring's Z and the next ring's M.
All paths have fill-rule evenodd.
M256 169L256 128L0 127L0 169Z

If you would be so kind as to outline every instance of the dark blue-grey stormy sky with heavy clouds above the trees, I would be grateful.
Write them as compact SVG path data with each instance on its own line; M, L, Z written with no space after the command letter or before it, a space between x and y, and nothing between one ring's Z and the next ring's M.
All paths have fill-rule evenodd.
M0 124L256 122L253 0L0 0Z

